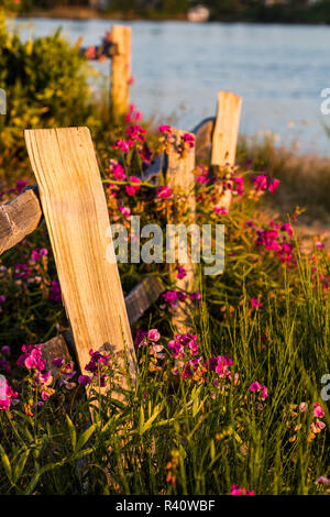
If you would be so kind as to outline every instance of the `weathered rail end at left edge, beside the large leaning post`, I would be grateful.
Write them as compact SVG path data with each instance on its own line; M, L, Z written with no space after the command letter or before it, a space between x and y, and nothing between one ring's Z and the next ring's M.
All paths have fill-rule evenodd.
M0 205L0 255L32 233L41 218L42 209L33 189Z

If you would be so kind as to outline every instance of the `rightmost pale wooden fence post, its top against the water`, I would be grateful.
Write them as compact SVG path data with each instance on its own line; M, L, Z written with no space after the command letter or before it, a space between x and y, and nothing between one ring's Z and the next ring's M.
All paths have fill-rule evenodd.
M218 92L217 118L212 136L211 165L222 167L235 163L242 98L228 91ZM231 190L221 199L223 207L231 204Z

